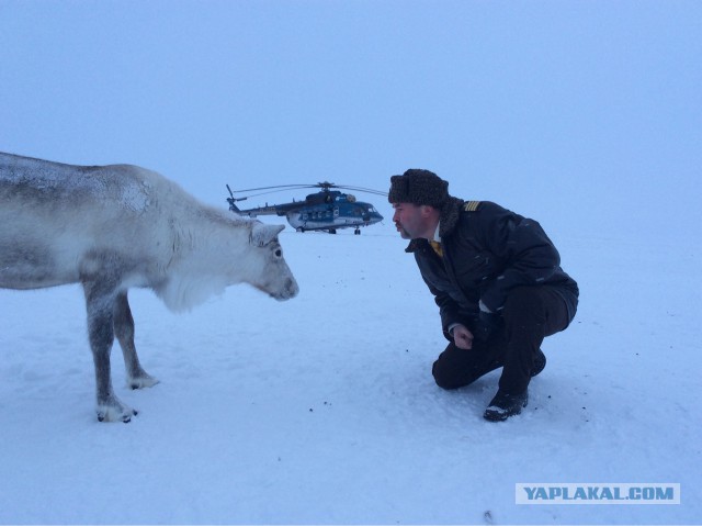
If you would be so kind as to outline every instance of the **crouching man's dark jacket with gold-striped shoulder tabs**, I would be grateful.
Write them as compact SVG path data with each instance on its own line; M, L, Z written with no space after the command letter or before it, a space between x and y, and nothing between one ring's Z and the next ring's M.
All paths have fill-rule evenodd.
M446 337L453 323L472 328L478 302L499 312L519 286L552 287L573 320L578 286L561 268L561 256L541 225L488 201L450 198L441 210L439 236L443 256L423 238L412 239L421 276L435 296Z

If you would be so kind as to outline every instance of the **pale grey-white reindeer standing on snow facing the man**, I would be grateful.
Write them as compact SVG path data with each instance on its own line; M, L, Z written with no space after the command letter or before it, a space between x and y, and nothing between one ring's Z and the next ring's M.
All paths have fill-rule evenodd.
M115 336L127 384L158 383L137 357L128 289L151 289L171 311L242 282L280 301L294 298L297 283L278 239L283 228L202 204L137 166L0 153L0 288L82 286L100 422L137 414L112 388Z

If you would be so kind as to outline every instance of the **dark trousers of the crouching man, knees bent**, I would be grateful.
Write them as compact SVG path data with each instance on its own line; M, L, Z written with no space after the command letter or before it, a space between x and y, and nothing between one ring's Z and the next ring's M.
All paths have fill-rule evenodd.
M529 385L544 337L563 331L571 321L564 299L545 286L512 290L501 314L501 327L487 342L476 339L472 349L449 344L432 369L439 387L462 388L502 367L499 389L520 394Z

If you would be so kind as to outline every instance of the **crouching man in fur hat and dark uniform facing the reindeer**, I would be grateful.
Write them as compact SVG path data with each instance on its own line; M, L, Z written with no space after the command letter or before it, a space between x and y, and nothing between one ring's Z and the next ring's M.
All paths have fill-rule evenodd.
M433 365L441 388L467 385L502 368L485 418L503 421L529 401L546 365L545 336L565 329L578 286L541 225L498 204L462 201L428 170L390 178L393 221L439 305L446 349Z

